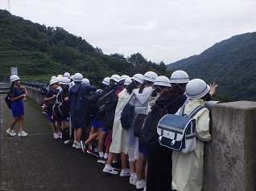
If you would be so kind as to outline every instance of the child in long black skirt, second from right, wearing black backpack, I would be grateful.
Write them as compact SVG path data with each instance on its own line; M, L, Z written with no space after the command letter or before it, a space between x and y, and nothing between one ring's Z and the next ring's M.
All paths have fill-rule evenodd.
M158 86L162 84L163 86L160 81L163 80L159 80L155 84L158 84ZM161 92L151 111L155 112L158 107L166 107L167 113L175 114L187 100L184 92L188 81L189 77L185 71L173 72L170 79L171 88L168 91ZM163 89L161 86L160 88ZM160 144L157 148L148 148L147 191L171 190L171 151L171 149Z

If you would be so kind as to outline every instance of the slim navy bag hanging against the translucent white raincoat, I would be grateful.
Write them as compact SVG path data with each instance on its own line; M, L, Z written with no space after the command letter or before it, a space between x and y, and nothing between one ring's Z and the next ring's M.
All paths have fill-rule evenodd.
M130 100L133 98L133 96L134 96L134 94L131 95ZM135 106L129 103L130 100L127 102L125 107L122 109L121 118L120 118L122 128L124 128L126 130L128 130L130 128L130 125L134 118Z

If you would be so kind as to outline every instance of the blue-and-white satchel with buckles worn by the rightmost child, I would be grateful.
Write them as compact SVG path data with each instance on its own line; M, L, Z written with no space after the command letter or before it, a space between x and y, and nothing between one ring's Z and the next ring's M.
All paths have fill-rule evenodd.
M204 106L197 106L189 115L184 115L185 105L180 109L180 116L167 114L159 120L157 133L159 144L182 153L196 149L196 115Z

